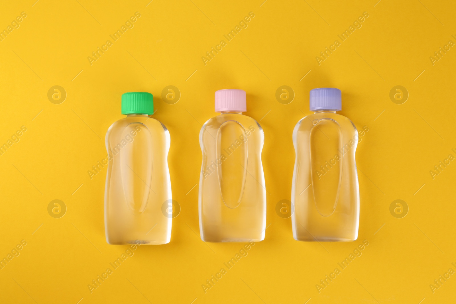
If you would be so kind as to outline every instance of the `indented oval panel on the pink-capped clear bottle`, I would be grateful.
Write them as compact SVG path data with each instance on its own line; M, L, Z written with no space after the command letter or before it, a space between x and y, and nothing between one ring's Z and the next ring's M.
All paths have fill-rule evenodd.
M244 196L248 145L244 127L237 121L224 122L217 132L217 173L222 200L236 208Z

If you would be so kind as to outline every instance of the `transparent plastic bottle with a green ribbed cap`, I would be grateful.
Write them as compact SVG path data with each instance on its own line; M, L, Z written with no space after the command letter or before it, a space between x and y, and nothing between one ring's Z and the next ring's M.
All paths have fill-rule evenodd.
M166 244L171 239L171 182L168 169L170 135L148 115L153 96L122 95L122 114L106 133L108 171L104 223L109 244Z

